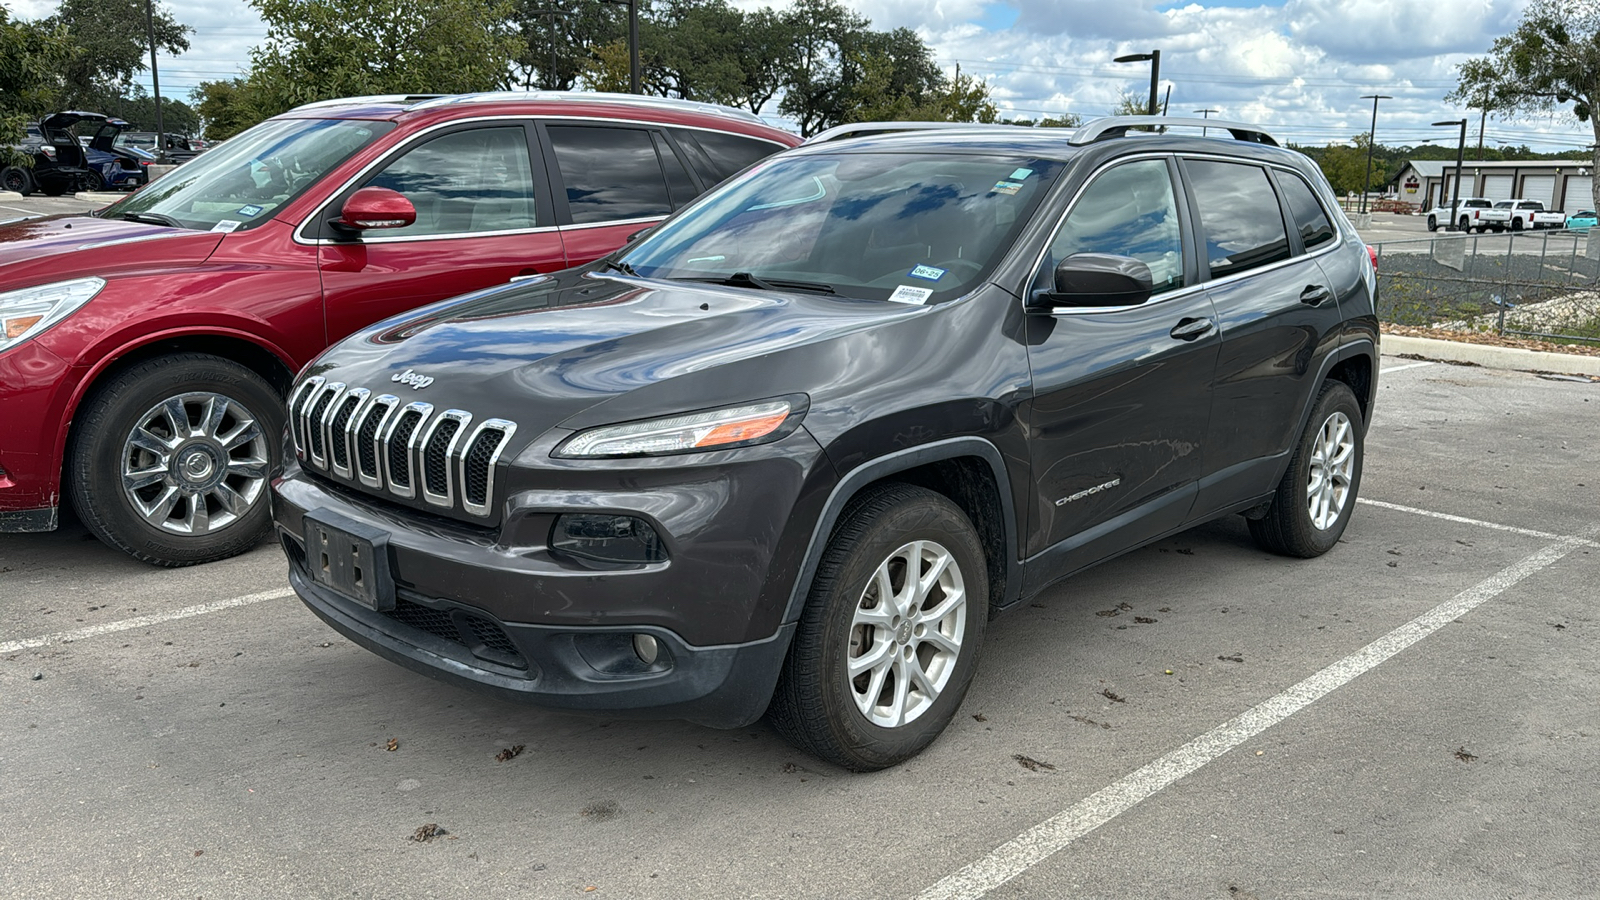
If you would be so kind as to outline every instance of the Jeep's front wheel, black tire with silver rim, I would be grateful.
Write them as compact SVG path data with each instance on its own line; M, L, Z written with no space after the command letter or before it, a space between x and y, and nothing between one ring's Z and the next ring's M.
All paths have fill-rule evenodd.
M958 506L890 484L829 540L768 717L854 772L917 756L955 716L989 620L987 565Z

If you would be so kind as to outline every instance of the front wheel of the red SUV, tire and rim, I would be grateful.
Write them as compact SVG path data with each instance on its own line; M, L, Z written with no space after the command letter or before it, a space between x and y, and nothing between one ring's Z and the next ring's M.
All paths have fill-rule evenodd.
M238 556L270 525L282 431L282 397L237 362L174 354L138 364L74 423L74 506L94 536L141 562Z

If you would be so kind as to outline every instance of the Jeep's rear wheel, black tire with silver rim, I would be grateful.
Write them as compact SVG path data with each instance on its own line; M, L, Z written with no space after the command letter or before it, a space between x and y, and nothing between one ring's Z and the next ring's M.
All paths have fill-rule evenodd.
M1272 504L1261 519L1250 519L1250 536L1262 549L1302 559L1333 549L1362 487L1365 436L1350 388L1323 383Z

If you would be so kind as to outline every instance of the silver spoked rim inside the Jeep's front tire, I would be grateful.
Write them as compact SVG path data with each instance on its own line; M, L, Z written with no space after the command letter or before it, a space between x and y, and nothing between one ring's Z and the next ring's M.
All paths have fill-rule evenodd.
M915 721L950 682L966 634L962 567L934 541L910 541L878 564L850 623L848 676L874 725Z

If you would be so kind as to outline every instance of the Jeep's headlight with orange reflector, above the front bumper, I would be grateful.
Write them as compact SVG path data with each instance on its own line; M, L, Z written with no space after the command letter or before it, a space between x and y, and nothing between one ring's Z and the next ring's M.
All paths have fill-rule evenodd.
M726 450L778 440L800 428L802 397L762 400L704 413L590 428L568 437L555 456L656 456L694 450Z

